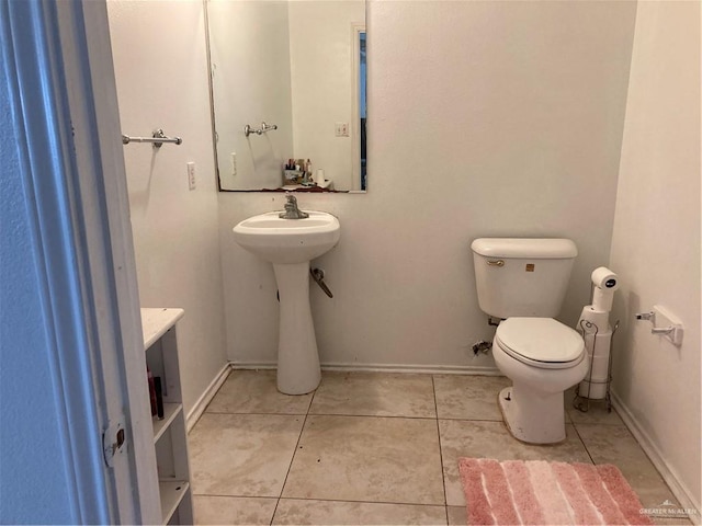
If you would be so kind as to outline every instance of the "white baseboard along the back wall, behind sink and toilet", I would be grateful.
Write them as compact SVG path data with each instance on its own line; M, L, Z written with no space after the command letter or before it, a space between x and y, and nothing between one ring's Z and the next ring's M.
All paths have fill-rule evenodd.
M231 362L234 369L275 369L275 362ZM433 375L502 376L497 367L472 365L390 365L329 362L321 364L322 370L373 371L373 373L422 373Z

